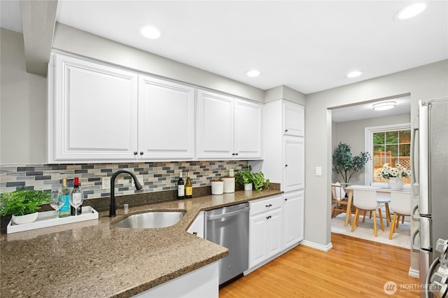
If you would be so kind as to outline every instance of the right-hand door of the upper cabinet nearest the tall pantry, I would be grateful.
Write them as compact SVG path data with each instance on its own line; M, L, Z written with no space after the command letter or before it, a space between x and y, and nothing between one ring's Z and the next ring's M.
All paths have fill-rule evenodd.
M262 157L262 105L235 99L235 157Z

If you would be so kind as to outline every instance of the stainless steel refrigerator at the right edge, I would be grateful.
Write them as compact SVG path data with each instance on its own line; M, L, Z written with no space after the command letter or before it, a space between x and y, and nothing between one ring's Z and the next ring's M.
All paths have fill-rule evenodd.
M419 101L418 123L412 179L418 197L413 218L419 229L412 236L412 248L419 251L420 283L425 288L430 264L440 255L435 251L437 240L448 239L448 98ZM422 289L422 297L425 292Z

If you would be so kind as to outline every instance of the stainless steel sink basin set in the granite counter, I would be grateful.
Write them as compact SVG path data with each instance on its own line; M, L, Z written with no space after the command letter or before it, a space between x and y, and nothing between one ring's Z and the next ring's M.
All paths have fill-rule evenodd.
M165 211L158 212L152 211L147 213L140 213L130 215L115 224L116 227L127 227L130 229L149 229L154 227L170 227L175 225L183 218L183 212L177 211Z

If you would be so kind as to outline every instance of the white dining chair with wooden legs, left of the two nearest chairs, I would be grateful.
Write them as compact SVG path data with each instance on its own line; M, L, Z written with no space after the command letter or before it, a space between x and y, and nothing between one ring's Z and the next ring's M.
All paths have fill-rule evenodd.
M381 205L377 202L376 190L353 190L353 205L356 207L355 221L351 226L351 232L355 230L355 226L359 225L360 211L373 211L373 232L374 236L378 236L377 232L377 209L379 213L379 222L381 223L381 230L384 231L383 217L381 215Z

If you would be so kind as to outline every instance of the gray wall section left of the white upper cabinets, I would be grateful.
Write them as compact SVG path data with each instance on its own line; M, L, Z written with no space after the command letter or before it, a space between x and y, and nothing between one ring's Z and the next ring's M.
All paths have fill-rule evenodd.
M46 162L47 79L25 71L23 36L1 28L0 162Z

